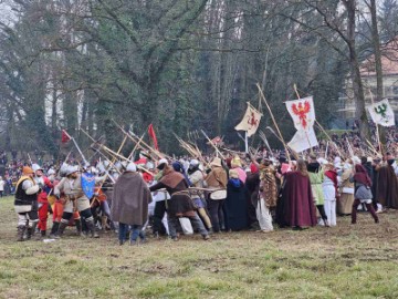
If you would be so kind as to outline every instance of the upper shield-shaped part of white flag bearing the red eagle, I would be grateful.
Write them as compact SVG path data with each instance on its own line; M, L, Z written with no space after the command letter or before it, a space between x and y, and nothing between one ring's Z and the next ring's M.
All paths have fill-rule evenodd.
M315 106L312 96L287 101L285 104L297 131L312 128L315 122Z

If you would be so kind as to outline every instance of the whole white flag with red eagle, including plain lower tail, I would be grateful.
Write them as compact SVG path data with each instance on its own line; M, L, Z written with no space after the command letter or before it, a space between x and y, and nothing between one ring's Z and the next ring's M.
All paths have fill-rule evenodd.
M317 146L318 142L314 131L315 106L313 97L287 101L286 107L294 122L294 127L297 130L291 142L287 143L289 147L301 153Z

